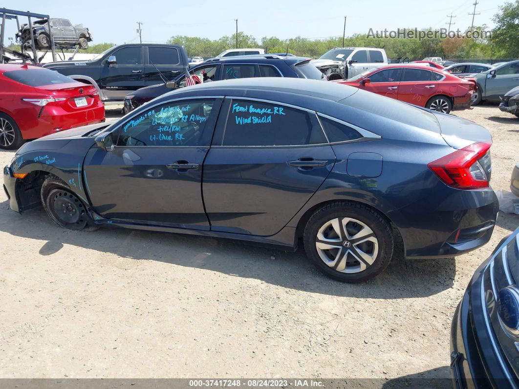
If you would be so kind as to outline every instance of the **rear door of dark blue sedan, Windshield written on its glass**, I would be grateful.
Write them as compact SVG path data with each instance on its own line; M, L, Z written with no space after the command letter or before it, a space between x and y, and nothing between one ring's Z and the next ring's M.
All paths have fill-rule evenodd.
M203 165L212 231L274 235L335 164L316 113L276 102L226 98Z

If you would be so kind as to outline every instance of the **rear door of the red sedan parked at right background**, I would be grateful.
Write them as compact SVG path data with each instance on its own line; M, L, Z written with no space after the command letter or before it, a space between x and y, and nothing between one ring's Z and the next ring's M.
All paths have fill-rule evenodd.
M427 69L406 68L398 86L398 99L419 106L438 94L439 81Z

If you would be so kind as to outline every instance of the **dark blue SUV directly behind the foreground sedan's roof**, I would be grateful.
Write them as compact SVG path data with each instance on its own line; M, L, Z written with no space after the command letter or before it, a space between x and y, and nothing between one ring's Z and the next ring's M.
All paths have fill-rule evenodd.
M265 54L257 56L239 56L229 58L211 58L189 69L189 73L198 76L201 83L220 81L222 79L251 77L292 77L326 80L315 66L310 64L311 58L279 56ZM167 82L144 87L128 93L124 100L124 113L152 100L173 89L185 87L186 74L181 74ZM196 82L198 84L198 81Z

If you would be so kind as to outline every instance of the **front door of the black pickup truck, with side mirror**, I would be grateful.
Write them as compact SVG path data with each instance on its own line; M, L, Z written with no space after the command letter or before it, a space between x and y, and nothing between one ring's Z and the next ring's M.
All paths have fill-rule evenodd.
M100 87L108 100L122 100L144 86L144 47L127 46L111 54L115 63L102 62Z

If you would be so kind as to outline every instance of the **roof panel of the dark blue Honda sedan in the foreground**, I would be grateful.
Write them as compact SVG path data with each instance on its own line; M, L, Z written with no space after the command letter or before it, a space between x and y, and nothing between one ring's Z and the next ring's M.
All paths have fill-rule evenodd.
M295 93L296 95L305 95L318 97L327 100L339 101L345 99L358 89L347 85L329 83L326 81L304 78L291 77L253 77L238 78L216 81L212 83L203 83L193 85L187 88L181 88L166 93L171 96L174 93L187 93L199 95L203 90L218 89L248 89L248 90L271 90L285 93ZM190 94L190 93L189 93ZM164 95L164 96L166 96Z

